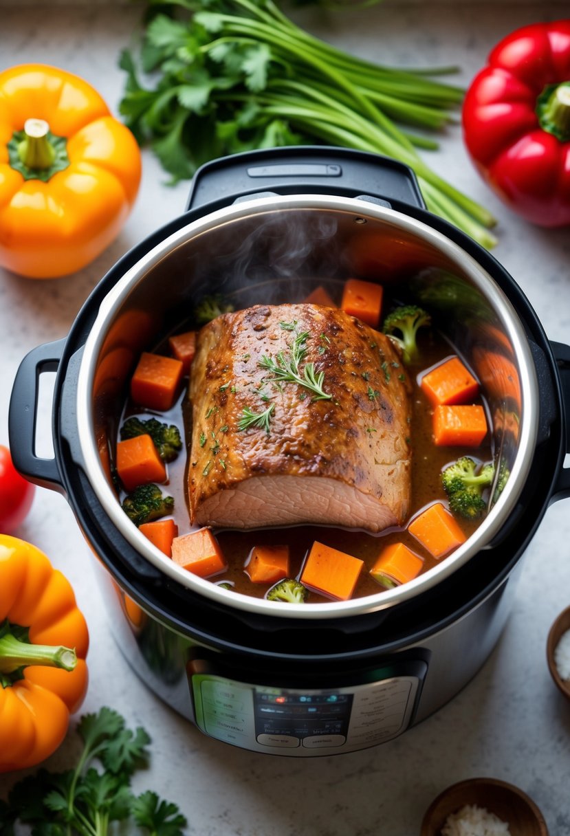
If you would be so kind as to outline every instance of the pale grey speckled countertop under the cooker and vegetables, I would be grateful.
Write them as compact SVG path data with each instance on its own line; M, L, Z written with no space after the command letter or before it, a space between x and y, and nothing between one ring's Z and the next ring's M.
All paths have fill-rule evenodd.
M82 75L116 108L117 55L135 30L135 5L2 3L0 69L27 61ZM459 64L467 82L492 44L524 23L559 18L564 3L384 3L366 11L298 13L313 32L387 64ZM528 226L496 201L473 171L459 127L429 155L431 166L499 218L494 252L517 279L550 339L570 341L570 234ZM165 186L145 152L135 211L107 252L72 278L33 282L0 270L0 443L23 355L68 333L89 291L136 242L181 212L187 185ZM48 406L40 406L38 452L48 454ZM431 800L450 783L494 776L537 802L551 836L570 834L570 703L547 672L547 631L570 604L570 514L550 507L523 558L511 618L481 672L420 726L382 747L310 761L265 757L204 737L163 705L125 665L94 587L88 549L63 497L38 489L18 532L74 584L91 634L84 711L114 706L152 738L150 770L137 779L180 804L201 836L414 836ZM63 767L70 737L48 762ZM5 797L14 777L0 777Z

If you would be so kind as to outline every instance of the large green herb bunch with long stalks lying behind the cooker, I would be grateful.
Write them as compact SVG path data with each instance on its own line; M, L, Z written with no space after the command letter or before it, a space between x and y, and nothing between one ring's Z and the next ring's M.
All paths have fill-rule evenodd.
M461 89L351 56L299 28L273 0L150 0L146 21L140 65L154 86L140 84L125 51L120 112L175 181L239 151L342 145L406 163L432 212L495 243L491 214L430 170L416 146L436 143L407 128L442 128Z

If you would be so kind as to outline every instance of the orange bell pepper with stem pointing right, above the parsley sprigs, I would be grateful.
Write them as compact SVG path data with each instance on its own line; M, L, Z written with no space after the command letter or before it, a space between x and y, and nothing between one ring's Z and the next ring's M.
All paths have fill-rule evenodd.
M0 534L0 772L36 766L64 740L87 691L88 645L69 581Z

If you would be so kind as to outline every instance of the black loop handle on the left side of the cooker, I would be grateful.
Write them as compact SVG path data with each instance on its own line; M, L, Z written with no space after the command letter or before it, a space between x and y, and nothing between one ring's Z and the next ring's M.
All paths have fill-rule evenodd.
M16 470L29 482L64 493L55 458L36 456L36 419L39 376L57 371L64 352L65 339L39 345L26 354L16 372L8 410L8 439Z

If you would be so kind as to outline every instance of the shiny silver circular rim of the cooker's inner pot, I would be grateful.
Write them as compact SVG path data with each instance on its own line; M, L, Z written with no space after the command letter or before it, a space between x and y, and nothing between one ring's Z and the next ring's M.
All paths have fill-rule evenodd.
M130 522L120 507L115 492L109 485L100 461L91 418L91 393L94 384L95 360L99 355L99 350L106 335L105 325L117 312L121 304L125 302L133 286L145 276L150 268L155 267L162 258L169 255L176 247L186 244L191 237L210 232L226 222L234 222L252 214L274 214L283 210L303 209L348 212L353 214L354 217L370 217L374 220L380 220L396 229L412 233L415 237L419 237L432 247L440 250L451 262L460 264L462 271L481 290L493 309L501 315L502 323L508 332L519 364L522 421L519 428L517 457L511 468L506 487L501 492L501 497L477 528L476 533L467 538L466 543L457 548L449 557L443 558L441 563L420 574L416 579L394 589L379 591L378 594L330 603L282 604L266 599L252 598L242 593L228 592L226 589L212 583L211 580L201 579L197 575L186 571L150 543L134 523ZM85 475L88 477L89 483L93 487L104 511L127 542L155 568L164 573L167 578L176 581L183 587L191 589L222 606L229 605L248 613L277 615L280 618L328 619L331 616L344 617L366 614L394 606L394 604L401 603L428 589L432 589L440 580L449 577L450 574L455 573L461 566L471 560L481 548L490 548L493 538L500 533L504 521L516 506L522 485L532 464L538 427L539 398L537 397L537 390L537 377L532 353L515 308L506 294L491 278L490 273L487 273L476 262L475 258L471 257L450 238L445 237L441 232L414 217L359 198L322 194L254 197L206 213L165 237L155 247L146 252L140 258L140 261L128 269L102 300L84 344L77 380L78 435L81 456L83 457L83 461L79 463L83 466Z

